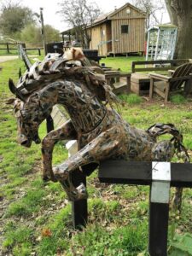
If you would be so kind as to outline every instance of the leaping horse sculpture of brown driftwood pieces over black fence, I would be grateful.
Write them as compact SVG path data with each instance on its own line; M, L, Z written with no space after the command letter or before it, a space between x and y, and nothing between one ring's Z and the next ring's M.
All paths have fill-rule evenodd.
M46 58L20 78L17 86L9 80L15 94L15 116L18 121L18 141L30 147L40 143L38 126L55 104L66 108L70 119L61 128L49 132L42 141L44 179L59 181L71 201L86 198L84 184L73 186L71 174L79 167L99 163L104 159L170 161L175 153L189 160L183 147L183 137L172 124L157 124L148 131L126 123L107 103L114 101L98 67L82 67L63 57ZM102 72L101 72L102 73ZM111 105L111 104L108 104ZM171 140L157 142L161 134L170 133ZM78 140L79 151L61 165L52 167L55 143Z

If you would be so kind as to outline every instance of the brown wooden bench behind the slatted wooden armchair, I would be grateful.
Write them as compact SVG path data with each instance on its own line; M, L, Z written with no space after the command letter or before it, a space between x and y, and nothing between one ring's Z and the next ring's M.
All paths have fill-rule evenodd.
M148 72L172 72L189 59L169 60L169 61L133 61L131 64L131 90L137 95L142 96L149 93L150 77ZM139 66L139 67L137 67ZM142 72L142 73L141 73Z

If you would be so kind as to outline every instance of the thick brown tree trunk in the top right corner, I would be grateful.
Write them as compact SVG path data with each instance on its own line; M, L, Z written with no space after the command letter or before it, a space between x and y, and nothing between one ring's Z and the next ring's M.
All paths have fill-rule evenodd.
M172 24L178 26L175 59L192 58L192 1L165 0Z

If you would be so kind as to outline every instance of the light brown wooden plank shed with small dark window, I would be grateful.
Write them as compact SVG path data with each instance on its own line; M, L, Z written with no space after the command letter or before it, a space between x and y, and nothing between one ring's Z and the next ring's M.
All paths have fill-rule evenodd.
M89 27L90 49L99 55L144 51L146 15L130 3L100 16Z

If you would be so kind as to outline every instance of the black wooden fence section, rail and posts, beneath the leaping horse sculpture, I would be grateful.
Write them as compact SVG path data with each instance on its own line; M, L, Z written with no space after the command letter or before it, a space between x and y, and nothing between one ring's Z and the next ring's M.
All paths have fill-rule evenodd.
M166 256L170 187L192 188L192 164L106 160L100 163L98 177L101 183L150 186L148 251L151 256ZM87 222L87 201L75 206L73 226L79 229Z

